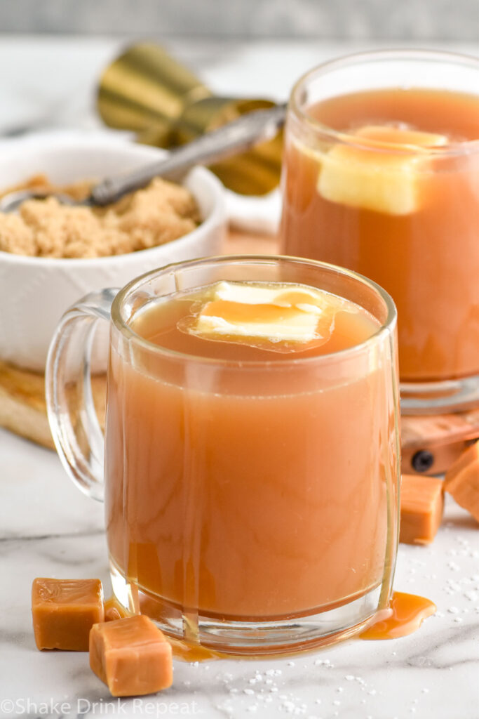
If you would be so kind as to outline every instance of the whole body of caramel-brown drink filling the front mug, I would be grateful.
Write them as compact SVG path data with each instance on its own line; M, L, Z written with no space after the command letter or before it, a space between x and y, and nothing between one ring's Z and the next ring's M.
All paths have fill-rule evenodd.
M149 342L188 356L157 357L139 346L123 356L112 335L111 561L141 605L160 605L163 616L187 608L213 618L285 618L365 597L394 564L394 358L368 343L358 357L343 353L345 362L340 352L326 353L364 342L379 323L358 305L303 285L256 284L256 298L259 290L274 298L239 309L221 304L223 290L172 296L132 322ZM231 291L238 300L238 288L227 290L237 304ZM271 307L294 317L294 333L304 331L299 340L278 340L280 332L290 338L292 327L278 324ZM297 324L298 311L306 322ZM322 333L325 342L304 349L311 314L315 339ZM218 318L238 316L246 334L230 328L227 339L205 339L224 328ZM260 337L251 326L258 322ZM279 362L319 354L319 364ZM328 356L331 366L322 362Z

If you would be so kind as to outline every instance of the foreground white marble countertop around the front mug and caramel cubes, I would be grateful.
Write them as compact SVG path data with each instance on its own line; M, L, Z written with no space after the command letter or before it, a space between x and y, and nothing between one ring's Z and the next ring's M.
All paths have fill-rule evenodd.
M101 505L80 494L53 452L0 431L0 457L0 716L53 718L58 702L88 719L141 716L153 702L155 716L174 716L178 705L207 719L477 719L479 528L452 501L432 546L400 547L396 588L438 608L417 633L292 659L175 661L167 692L106 707L88 655L35 649L30 613L37 575L101 577L108 587Z

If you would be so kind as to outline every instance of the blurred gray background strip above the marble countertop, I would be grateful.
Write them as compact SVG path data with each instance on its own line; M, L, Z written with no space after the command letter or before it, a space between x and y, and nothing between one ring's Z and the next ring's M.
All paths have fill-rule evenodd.
M0 0L1 32L478 40L479 0Z

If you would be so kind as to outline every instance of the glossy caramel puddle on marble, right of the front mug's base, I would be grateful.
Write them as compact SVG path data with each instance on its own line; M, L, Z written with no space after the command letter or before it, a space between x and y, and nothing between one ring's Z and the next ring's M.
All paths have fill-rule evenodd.
M425 597L393 592L389 616L379 613L359 637L361 639L397 639L419 629L424 619L436 612L436 605Z

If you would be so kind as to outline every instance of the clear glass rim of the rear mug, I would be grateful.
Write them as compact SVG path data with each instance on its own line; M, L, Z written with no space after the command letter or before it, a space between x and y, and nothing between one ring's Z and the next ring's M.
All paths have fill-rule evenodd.
M308 111L301 108L297 95L301 91L302 87L310 82L313 78L318 75L327 74L330 70L340 70L353 63L373 63L381 60L422 60L431 61L435 63L452 63L455 65L470 65L478 70L479 76L479 58L475 58L474 55L468 55L461 52L451 52L450 50L422 50L422 49L404 49L404 48L391 48L387 50L366 50L365 52L351 52L348 55L341 55L339 58L333 58L332 60L325 60L324 63L316 65L314 68L307 70L306 73L301 75L300 78L294 83L291 93L289 94L288 112L292 113L299 122L306 124L313 132L322 134L327 139L332 139L335 142L341 142L345 145L352 145L354 147L360 147L365 150L373 150L375 152L387 151L389 153L396 152L399 155L411 155L417 154L424 157L424 155L433 155L437 157L457 157L459 155L467 155L470 152L479 152L479 138L478 139L467 139L458 142L451 142L448 145L442 145L437 147L422 147L416 150L412 149L411 146L404 148L400 145L394 145L390 143L385 146L384 142L378 142L373 139L360 139L354 134L349 132L342 132L334 129L327 124L320 122L312 116ZM427 89L419 88L418 89ZM479 99L479 95L478 95Z

